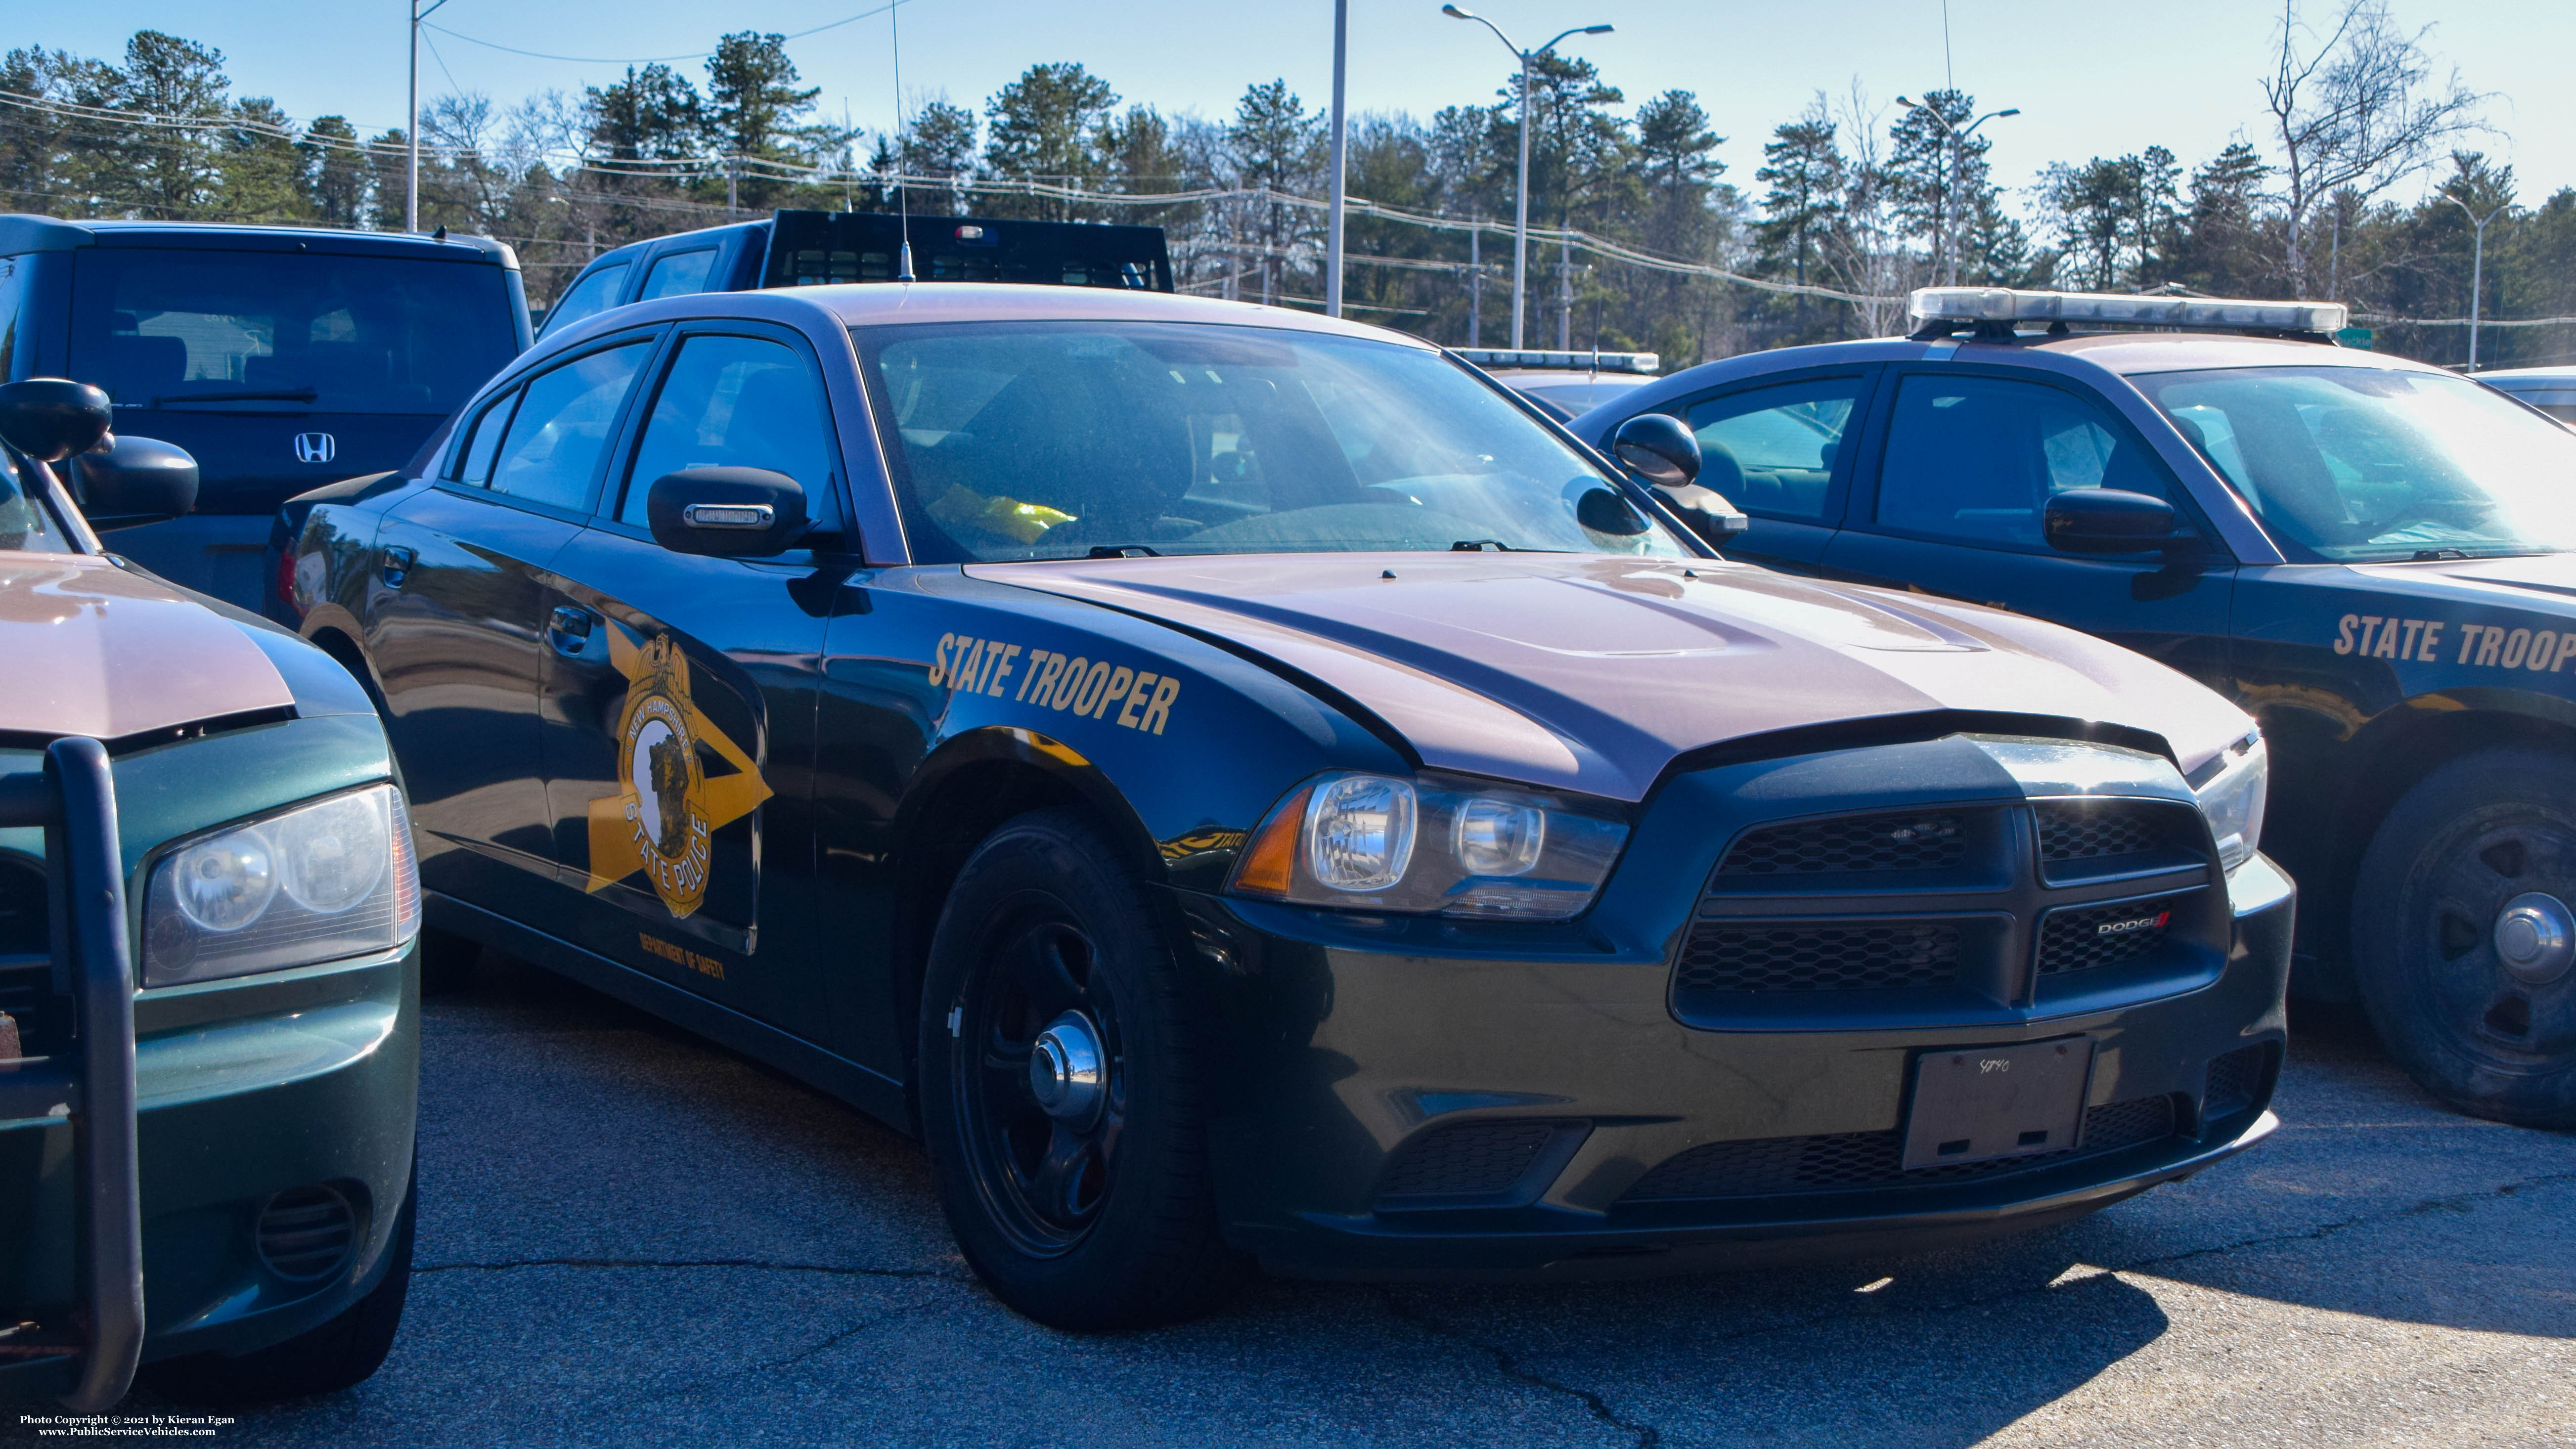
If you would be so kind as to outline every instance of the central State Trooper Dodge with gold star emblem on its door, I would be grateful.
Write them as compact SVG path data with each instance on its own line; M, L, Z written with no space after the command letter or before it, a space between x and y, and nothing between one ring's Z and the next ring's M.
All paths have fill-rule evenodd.
M1226 301L639 301L317 504L301 628L440 950L917 1130L1046 1323L1973 1238L2269 1132L2251 721L1721 561L1687 432L1618 445Z

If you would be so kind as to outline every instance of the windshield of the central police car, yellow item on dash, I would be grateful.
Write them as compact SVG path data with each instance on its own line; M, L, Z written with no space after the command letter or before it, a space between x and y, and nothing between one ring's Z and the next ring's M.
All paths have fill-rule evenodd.
M1582 453L1422 347L1159 322L853 335L922 561L1685 553Z

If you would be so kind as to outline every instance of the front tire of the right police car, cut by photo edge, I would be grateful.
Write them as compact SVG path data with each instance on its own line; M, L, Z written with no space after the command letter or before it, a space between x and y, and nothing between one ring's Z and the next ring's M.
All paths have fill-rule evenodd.
M2576 762L2537 749L2455 759L2362 854L2352 970L2370 1024L2427 1091L2476 1117L2571 1127L2576 968L2532 981L2496 950L2496 919L2524 893L2576 906Z

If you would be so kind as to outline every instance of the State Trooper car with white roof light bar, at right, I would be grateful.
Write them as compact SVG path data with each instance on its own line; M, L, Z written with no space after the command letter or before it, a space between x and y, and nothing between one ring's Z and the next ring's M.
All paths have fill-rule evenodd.
M2300 991L2442 1099L2576 1122L2576 435L2331 345L2336 304L1932 288L1904 340L1728 358L1687 420L1731 556L1976 600L2251 710Z

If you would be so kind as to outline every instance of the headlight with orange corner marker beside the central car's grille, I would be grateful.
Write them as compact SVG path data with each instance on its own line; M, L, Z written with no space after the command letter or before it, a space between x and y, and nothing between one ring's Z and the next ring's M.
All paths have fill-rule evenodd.
M1600 893L1628 839L1561 795L1391 775L1324 775L1244 844L1231 888L1355 911L1561 921Z

